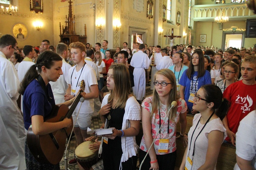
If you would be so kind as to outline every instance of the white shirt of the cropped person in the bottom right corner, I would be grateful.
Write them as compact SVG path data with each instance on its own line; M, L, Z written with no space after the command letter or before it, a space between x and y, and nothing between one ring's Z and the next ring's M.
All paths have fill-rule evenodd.
M236 154L242 159L252 160L252 166L256 169L256 111L250 112L240 121L236 133ZM240 170L238 165L234 170Z

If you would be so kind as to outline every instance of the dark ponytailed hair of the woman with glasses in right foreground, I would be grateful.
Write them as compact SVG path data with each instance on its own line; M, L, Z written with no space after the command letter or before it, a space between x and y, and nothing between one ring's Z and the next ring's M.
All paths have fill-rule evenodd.
M209 102L213 102L215 114L223 120L230 107L230 102L223 98L221 89L213 84L207 84L201 87L204 91L204 98Z

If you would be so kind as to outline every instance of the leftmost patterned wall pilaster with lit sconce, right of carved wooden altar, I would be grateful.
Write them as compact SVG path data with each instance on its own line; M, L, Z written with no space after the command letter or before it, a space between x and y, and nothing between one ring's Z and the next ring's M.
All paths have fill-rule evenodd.
M96 43L102 43L105 38L105 23L105 1L96 0L95 25L98 26L96 28Z

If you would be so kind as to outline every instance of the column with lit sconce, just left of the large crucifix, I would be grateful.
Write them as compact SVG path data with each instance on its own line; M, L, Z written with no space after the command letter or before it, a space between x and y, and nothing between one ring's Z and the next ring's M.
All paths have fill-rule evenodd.
M163 20L162 20L162 7L163 2L162 0L155 1L155 41L154 45L160 45L162 44L162 35L159 35L159 31L162 30Z

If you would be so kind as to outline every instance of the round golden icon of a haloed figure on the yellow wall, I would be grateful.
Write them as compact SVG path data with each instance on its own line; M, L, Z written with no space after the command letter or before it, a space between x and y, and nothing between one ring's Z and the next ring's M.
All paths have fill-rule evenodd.
M23 23L15 23L12 27L12 34L18 41L24 41L28 37L28 28Z

